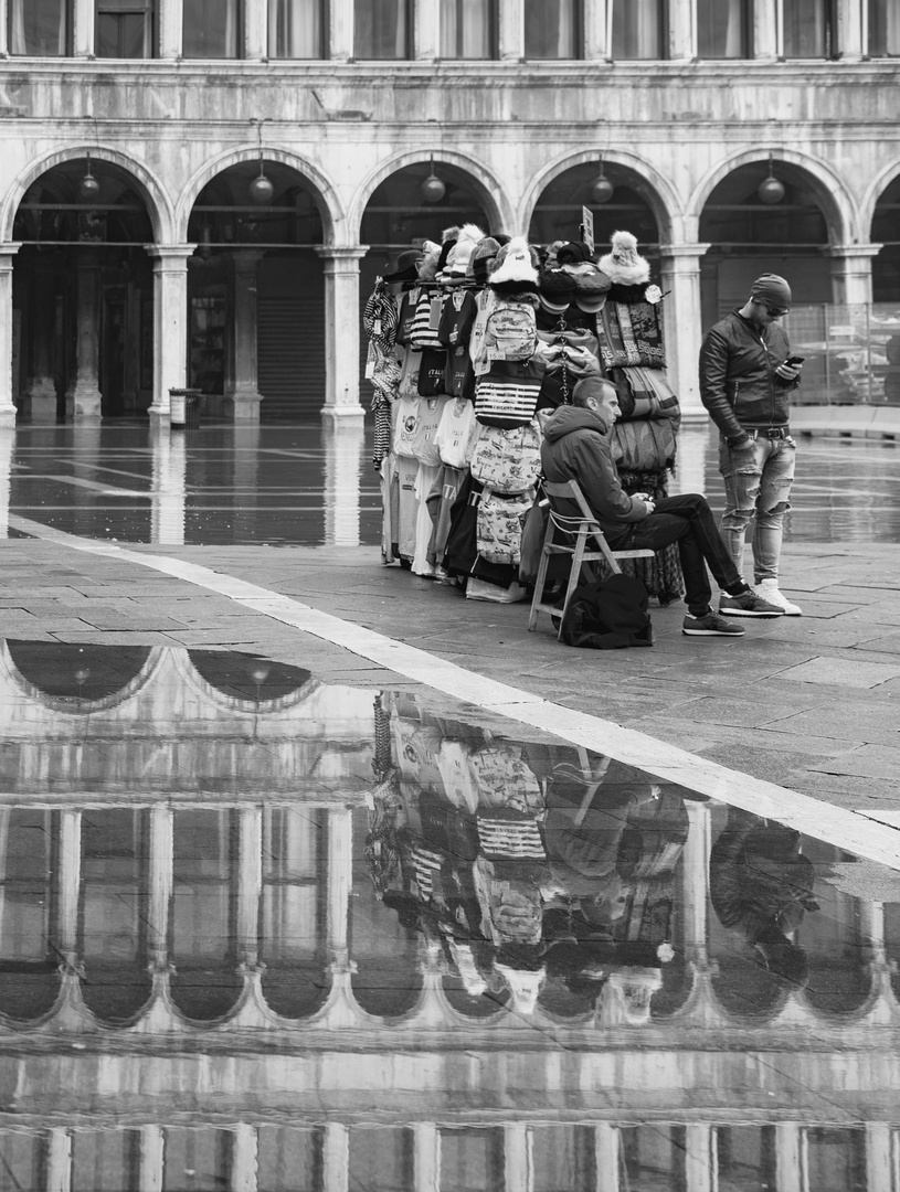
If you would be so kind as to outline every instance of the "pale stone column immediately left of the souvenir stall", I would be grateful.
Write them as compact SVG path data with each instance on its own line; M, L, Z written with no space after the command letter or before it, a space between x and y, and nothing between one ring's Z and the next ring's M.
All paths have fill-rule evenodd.
M325 404L322 417L362 424L359 402L359 262L367 246L317 248L325 274Z

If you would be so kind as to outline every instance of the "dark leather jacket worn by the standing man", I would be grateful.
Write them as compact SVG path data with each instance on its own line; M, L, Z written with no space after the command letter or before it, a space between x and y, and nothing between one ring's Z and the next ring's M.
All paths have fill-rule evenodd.
M700 348L700 399L730 443L747 429L788 424L788 395L799 381L784 381L775 370L789 355L790 343L777 323L761 331L737 310L707 333Z

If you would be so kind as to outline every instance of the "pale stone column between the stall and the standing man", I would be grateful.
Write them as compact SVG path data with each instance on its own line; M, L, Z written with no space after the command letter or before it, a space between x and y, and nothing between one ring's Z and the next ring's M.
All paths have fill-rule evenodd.
M702 340L700 317L700 257L708 244L660 247L663 322L669 381L678 395L682 422L706 422L700 401L697 356Z

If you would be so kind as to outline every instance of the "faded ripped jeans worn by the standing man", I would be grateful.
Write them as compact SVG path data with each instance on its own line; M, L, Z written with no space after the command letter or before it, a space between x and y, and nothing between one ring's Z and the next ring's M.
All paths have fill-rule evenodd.
M784 514L790 509L796 443L793 439L766 439L765 432L744 451L734 451L719 437L719 471L725 480L725 539L738 575L744 575L744 542L753 522L753 575L778 578Z

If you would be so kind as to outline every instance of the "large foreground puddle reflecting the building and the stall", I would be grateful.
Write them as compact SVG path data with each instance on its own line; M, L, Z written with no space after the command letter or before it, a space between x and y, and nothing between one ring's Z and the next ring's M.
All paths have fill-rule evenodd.
M253 654L0 702L0 1188L896 1190L898 873Z

